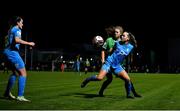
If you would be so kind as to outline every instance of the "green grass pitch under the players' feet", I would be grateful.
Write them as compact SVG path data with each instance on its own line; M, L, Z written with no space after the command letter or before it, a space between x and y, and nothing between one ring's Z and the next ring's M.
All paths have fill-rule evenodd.
M98 97L103 81L90 82L80 88L83 79L92 73L79 76L74 72L28 72L25 97L31 103L3 98L9 74L0 72L0 110L179 110L180 75L130 74L134 86L143 97L126 99L124 82L114 77ZM17 84L12 89L17 95Z

